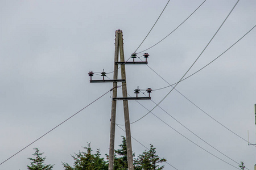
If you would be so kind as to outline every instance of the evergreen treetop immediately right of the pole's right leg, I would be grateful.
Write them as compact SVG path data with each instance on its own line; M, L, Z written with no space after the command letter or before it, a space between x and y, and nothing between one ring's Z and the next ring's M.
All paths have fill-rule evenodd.
M156 155L156 148L150 144L150 150L144 151L141 155L138 155L138 158L135 160L135 170L161 170L164 166L159 167L159 163L166 162L166 159L159 158Z

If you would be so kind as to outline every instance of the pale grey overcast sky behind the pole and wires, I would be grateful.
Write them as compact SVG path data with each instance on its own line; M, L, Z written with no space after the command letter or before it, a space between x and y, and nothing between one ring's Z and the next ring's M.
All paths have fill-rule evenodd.
M179 81L236 2L205 1L167 39L145 51L150 54L148 66L170 84ZM107 73L113 71L115 30L123 31L127 59L141 44L166 3L167 0L1 0L0 162L109 91L112 83L89 83L88 73L102 69ZM170 1L137 52L167 36L201 3L203 0ZM220 56L253 28L255 8L254 0L238 2L187 75ZM150 113L131 124L131 135L146 147L150 147L150 143L154 145L157 154L176 169L236 169L236 162L241 161L247 168L254 169L256 147L248 146L246 141L249 130L250 142L256 143L255 54L256 30L253 29L216 61L177 85L176 89L187 99L172 91L160 104L164 111L230 159L160 108L152 113L169 126ZM137 86L150 87L152 101L159 103L171 88L154 91L168 86L154 71L146 65L126 65L127 92L135 96ZM112 74L108 76L113 78ZM94 75L93 79L101 79L101 76ZM119 97L121 94L118 90ZM109 154L111 101L111 94L106 94L0 165L0 169L27 169L26 165L30 164L27 158L35 147L47 156L46 164L55 164L53 169L63 169L61 162L72 164L71 154L82 150L86 142L91 142L94 153L100 148L102 156ZM155 107L152 101L140 100L139 103L150 110ZM130 122L148 113L142 105L129 101ZM116 123L124 123L121 101L117 104ZM117 149L125 133L116 127L115 135ZM132 140L135 155L146 149L137 141ZM163 165L164 169L174 169L167 163Z

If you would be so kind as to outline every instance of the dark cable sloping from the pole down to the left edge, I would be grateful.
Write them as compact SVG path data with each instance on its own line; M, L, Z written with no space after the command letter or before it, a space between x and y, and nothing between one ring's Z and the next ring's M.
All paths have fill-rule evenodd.
M71 119L73 116L75 116L77 113L81 112L82 110L84 110L85 108L89 107L89 105L93 104L95 101L97 101L98 99L100 99L101 97L105 96L106 94L108 94L108 92L112 91L114 88L112 88L111 90L107 91L105 94L101 95L100 97L98 97L96 100L92 101L92 103L86 105L86 107L82 108L80 111L76 112L75 114L73 114L71 117L67 118L66 120L64 120L63 122L61 122L59 125L55 126L55 128L52 128L51 130L49 130L47 133L45 133L44 135L42 135L40 138L36 139L34 142L31 142L30 144L28 144L26 147L22 148L22 150L16 152L16 154L14 154L13 156L19 154L19 152L23 151L24 149L26 149L28 146L32 145L33 143L35 143L36 141L38 141L39 139L43 138L45 135L47 135L48 133L50 133L52 130L56 129L57 127L59 127L60 125L64 124L64 122L68 121L69 119ZM6 159L4 162L0 163L0 165L2 165L3 163L5 163L7 160L13 158L13 156L10 156L10 158Z

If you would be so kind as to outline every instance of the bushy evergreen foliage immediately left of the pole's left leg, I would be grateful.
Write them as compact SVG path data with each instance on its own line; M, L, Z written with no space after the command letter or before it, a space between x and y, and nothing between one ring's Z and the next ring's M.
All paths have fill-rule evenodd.
M92 148L90 143L87 147L84 147L86 152L80 152L72 155L72 158L75 160L73 164L74 167L71 167L68 163L63 163L65 170L105 170L108 169L108 164L105 162L104 158L100 158L100 150L97 150L96 154L92 154Z

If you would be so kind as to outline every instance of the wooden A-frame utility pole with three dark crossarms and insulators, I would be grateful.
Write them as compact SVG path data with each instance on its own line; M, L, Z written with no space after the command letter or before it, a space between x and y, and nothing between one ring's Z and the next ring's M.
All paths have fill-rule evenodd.
M118 61L118 56L120 54L120 61ZM106 73L103 71L101 76L102 80L92 80L93 72L90 71L88 74L90 76L90 83L109 83L113 82L113 97L112 97L112 110L111 110L111 123L110 123L110 144L109 144L109 170L113 170L114 167L114 141L115 141L115 114L117 108L117 100L123 100L123 112L125 116L125 133L126 133L126 147L127 147L127 162L129 170L133 170L133 150L131 148L131 129L130 129L130 118L129 118L129 107L128 100L150 100L151 88L147 89L149 94L148 97L138 97L139 89L135 90L136 97L127 97L127 87L126 87L126 74L125 74L125 65L136 65L136 64L147 64L148 54L145 53L144 58L146 61L134 61L134 58L137 58L137 54L133 53L131 58L132 62L125 61L125 56L123 52L123 33L122 30L118 29L115 31L115 54L114 54L114 75L113 80L105 80L104 76ZM121 65L121 78L118 78L118 65ZM122 96L117 97L117 83L122 83Z

